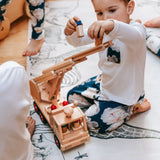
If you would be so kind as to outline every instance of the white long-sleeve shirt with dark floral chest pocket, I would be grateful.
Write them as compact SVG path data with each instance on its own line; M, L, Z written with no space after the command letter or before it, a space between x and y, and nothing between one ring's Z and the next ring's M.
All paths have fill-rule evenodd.
M108 35L104 34L103 42L112 40L114 45L99 52L103 99L133 105L144 93L145 35L143 25L134 21L126 24L117 20L114 20L114 29ZM87 36L87 30L83 38L77 38L73 33L66 39L73 46L93 42Z

